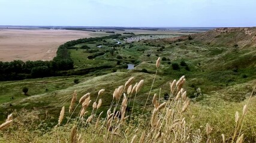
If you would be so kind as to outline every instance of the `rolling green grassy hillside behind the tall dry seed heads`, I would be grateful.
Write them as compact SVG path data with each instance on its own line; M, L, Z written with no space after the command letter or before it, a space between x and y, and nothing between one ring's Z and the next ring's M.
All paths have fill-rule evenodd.
M149 117L153 94L158 93L161 102L168 101L165 97L171 96L169 83L185 75L186 82L183 88L186 89L186 96L191 100L191 105L182 116L186 118L186 122L191 123L189 127L194 131L209 123L214 129L213 138L216 138L217 142L221 141L221 133L232 136L236 111L242 110L243 105L248 103L250 95L256 94L252 91L252 87L256 84L255 33L255 28L216 29L176 38L143 40L141 35L139 41L131 41L132 36L118 36L118 38L79 43L68 48L75 69L65 71L67 74L75 73L77 76L0 82L0 119L4 122L7 115L13 112L16 113L17 119L19 116L28 117L29 113L33 113L41 123L40 126L36 126L38 125L36 122L31 129L44 129L41 134L55 132L52 128L58 123L62 106L66 107L64 123L69 117L73 120L77 119L76 116L82 107L78 101L76 105L79 110L75 110L73 114L68 113L67 110L75 90L78 99L91 92L91 100L94 102L100 89L105 89L105 92L100 97L103 104L97 115L104 111L103 117L105 117L112 104L113 91L119 85L124 85L129 77L135 77L132 85L141 79L144 80L144 84L136 98L129 98L134 102L134 107L129 104L128 108L134 110L136 117L142 115ZM146 36L150 37L150 35ZM116 44L116 40L121 44ZM161 67L155 76L155 61L158 57L161 57ZM135 68L128 70L127 64L134 64ZM74 83L74 79L79 79L79 83ZM155 82L151 89L152 81ZM23 95L23 86L29 88L28 96ZM149 102L146 104L146 110L143 110L147 95L150 97ZM250 128L255 126L254 97L251 100L243 133L247 136L246 141L255 142L255 129ZM91 105L86 111L91 114ZM131 110L128 110L128 113L131 114ZM85 119L88 116L89 114ZM192 116L197 120L193 120ZM137 122L135 119L134 121ZM132 126L137 125L132 124ZM146 126L146 123L141 123L141 126ZM65 127L61 129L62 135L70 132L71 125L67 125L67 128L68 130ZM20 130L13 132L12 135L17 135ZM138 135L141 133L142 131ZM128 139L131 139L132 135L130 133ZM5 133L2 136L5 139L10 138ZM206 141L209 137L203 131L200 131L198 136L202 138L201 141ZM40 139L47 140L49 136L46 133L44 137L35 140L27 138L23 141L40 142Z

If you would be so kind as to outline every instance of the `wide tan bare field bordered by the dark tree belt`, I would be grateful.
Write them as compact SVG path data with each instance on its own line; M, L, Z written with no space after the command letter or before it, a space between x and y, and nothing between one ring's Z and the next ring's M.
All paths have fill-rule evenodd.
M0 29L0 61L52 60L62 43L92 37L92 32L46 29Z

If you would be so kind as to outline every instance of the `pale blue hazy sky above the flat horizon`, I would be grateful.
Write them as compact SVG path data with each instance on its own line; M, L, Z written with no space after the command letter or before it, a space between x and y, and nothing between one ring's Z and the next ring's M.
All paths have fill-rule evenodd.
M252 27L256 0L0 0L0 25Z

